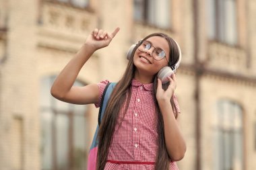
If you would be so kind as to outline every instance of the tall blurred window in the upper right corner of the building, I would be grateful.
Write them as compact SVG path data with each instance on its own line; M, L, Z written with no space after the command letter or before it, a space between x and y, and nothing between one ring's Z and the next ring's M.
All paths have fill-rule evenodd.
M236 0L207 0L210 39L237 44Z

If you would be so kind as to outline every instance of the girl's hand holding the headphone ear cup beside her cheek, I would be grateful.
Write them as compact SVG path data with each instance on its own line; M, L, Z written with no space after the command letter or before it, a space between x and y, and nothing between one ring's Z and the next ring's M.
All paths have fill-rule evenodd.
M168 80L170 81L170 85L168 86L166 91L164 91L164 89L162 89L162 81L158 79L158 87L156 91L156 99L158 100L158 103L162 101L170 102L170 98L174 94L174 91L177 87L175 75L172 74L170 77L168 77Z

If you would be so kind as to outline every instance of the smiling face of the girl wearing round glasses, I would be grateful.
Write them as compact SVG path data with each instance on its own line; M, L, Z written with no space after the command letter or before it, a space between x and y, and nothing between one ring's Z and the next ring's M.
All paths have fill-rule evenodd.
M138 75L146 75L151 77L151 79L154 78L154 75L160 71L163 67L168 65L169 60L169 45L166 39L162 38L161 36L152 36L148 38L147 43L150 42L151 47L149 50L137 50L134 53L133 56L133 63L136 67L135 70L135 76ZM149 46L150 46L149 45ZM145 44L141 44L141 48L147 48ZM153 56L156 56L158 53L155 49L161 48L165 52L165 57L161 60L156 60ZM159 59L159 58L158 58Z

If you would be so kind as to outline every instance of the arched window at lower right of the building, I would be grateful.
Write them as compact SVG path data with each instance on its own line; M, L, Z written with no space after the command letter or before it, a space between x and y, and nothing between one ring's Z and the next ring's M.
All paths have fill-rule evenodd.
M214 115L214 169L243 169L243 114L228 100L218 101Z

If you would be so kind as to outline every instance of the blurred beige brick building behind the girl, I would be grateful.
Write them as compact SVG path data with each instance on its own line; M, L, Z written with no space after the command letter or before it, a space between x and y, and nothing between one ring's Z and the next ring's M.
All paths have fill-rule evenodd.
M94 28L119 26L75 85L118 81L131 44L169 34L183 52L180 169L255 170L255 16L255 0L0 0L0 169L86 169L98 110L50 88Z

